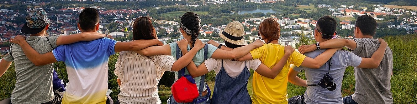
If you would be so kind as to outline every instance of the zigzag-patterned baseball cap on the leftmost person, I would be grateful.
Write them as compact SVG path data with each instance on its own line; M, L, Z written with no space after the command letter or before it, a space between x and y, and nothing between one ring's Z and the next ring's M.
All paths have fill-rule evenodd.
M26 16L26 23L21 31L25 34L37 34L48 24L48 16L44 10L31 10Z

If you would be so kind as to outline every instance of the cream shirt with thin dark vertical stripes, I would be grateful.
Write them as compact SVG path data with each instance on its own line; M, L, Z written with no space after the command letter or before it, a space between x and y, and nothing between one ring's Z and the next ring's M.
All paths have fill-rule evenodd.
M172 56L143 56L133 51L120 52L114 74L121 80L118 100L121 104L161 104L158 82L171 71Z

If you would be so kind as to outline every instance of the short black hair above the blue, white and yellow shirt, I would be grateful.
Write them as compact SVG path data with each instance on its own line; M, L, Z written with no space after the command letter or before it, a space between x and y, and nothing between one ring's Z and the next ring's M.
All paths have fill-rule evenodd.
M95 25L97 25L98 11L93 8L85 8L78 18L78 23L80 23L80 28L83 30L94 30Z

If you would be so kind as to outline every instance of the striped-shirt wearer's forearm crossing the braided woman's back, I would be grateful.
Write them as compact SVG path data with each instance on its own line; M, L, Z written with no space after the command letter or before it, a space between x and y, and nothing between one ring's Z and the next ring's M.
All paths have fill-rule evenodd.
M172 71L179 71L183 67L186 67L192 61L197 52L197 49L191 49L190 52L187 52L186 54L183 53L184 55L172 65Z

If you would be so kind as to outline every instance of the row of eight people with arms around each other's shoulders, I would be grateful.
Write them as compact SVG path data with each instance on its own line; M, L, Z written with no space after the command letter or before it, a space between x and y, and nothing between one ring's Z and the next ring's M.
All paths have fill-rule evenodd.
M161 104L157 85L165 71L175 71L176 80L184 74L193 77L199 96L186 104L392 104L392 52L384 40L373 39L376 22L367 15L358 17L353 40L334 39L336 20L321 17L314 29L317 44L301 46L303 54L278 43L280 25L272 18L259 25L263 41L251 44L244 40L241 23L230 22L219 33L226 46L198 40L201 21L193 12L181 17L184 39L167 45L157 39L148 17L135 20L131 42L96 32L100 23L93 8L80 13L82 33L74 35L44 37L49 21L43 10L30 11L26 20L22 32L30 37L13 38L13 51L0 61L0 76L15 61L12 104L113 104L106 91L108 58L115 52L120 52L114 70L121 90L115 103L120 104ZM345 46L352 52L341 50ZM52 63L58 61L67 67L70 85L65 93L52 90ZM355 93L342 97L348 66L355 67ZM250 69L255 71L252 94L247 91ZM205 74L213 70L211 96ZM306 80L297 77L300 70L305 70ZM288 99L287 82L307 90ZM167 103L181 104L172 95Z

